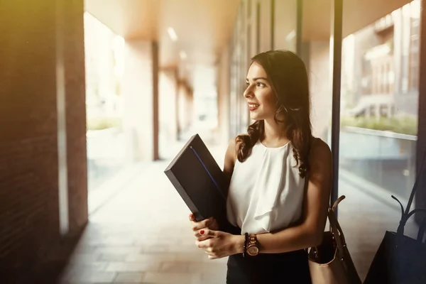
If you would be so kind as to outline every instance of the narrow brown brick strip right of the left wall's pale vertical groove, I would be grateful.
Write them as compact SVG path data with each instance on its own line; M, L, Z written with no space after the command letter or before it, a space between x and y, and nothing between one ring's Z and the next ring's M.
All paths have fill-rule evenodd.
M70 232L87 222L86 102L84 80L84 0L65 1L67 173Z

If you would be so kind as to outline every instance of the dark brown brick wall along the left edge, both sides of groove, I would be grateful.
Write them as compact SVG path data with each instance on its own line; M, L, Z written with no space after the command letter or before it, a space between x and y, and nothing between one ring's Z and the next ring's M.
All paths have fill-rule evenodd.
M59 234L56 2L0 2L1 279L16 272L6 283L30 278L29 269L65 248ZM87 222L83 1L66 5L68 190L70 229L77 232Z

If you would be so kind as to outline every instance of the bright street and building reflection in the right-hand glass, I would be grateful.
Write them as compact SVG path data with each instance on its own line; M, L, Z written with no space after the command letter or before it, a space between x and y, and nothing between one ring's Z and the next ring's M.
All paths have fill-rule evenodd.
M420 1L344 38L340 171L372 195L408 198L415 180Z

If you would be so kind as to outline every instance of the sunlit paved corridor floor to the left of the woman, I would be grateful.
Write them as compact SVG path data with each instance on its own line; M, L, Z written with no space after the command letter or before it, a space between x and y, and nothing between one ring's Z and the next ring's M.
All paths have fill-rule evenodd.
M224 283L226 259L195 246L190 212L163 173L168 163L143 167L89 217L61 284Z

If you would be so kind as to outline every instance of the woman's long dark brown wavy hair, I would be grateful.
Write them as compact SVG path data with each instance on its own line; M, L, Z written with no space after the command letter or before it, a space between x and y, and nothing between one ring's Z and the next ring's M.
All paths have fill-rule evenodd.
M285 136L293 145L293 156L299 174L305 178L309 170L308 155L312 141L310 123L310 94L307 72L303 61L288 50L271 50L259 53L251 59L263 67L269 84L278 99L274 119L285 122ZM278 117L283 117L280 121ZM249 157L251 148L263 138L264 121L259 120L249 126L247 134L236 136L236 155L242 163Z

